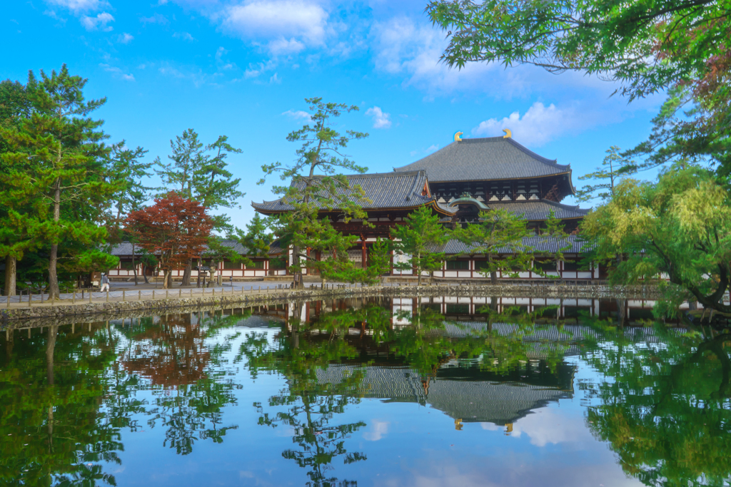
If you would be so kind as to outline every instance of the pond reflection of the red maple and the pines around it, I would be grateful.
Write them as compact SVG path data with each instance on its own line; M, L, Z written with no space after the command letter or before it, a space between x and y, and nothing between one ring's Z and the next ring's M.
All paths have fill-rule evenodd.
M130 329L128 348L121 353L123 374L116 390L123 398L121 410L144 410L135 391L149 389L154 407L148 426L167 429L164 445L181 455L191 453L197 440L220 443L229 429L221 426L221 409L235 404L233 380L226 378L222 356L235 338L210 345L221 329L238 323L246 315L167 315L157 321L145 318ZM143 379L140 381L140 378ZM137 425L133 425L136 427Z

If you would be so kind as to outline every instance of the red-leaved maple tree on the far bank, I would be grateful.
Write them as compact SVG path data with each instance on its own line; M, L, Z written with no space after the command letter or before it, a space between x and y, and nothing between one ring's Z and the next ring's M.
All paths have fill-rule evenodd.
M181 269L190 259L200 256L213 228L206 208L170 191L155 204L129 213L125 225L140 242L140 247L154 254L165 273L162 287L170 287L173 269Z

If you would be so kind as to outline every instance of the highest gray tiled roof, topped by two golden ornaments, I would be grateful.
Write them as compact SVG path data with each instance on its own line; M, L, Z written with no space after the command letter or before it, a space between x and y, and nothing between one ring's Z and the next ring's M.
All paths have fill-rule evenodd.
M431 183L441 181L488 181L542 177L570 172L526 149L513 139L486 137L462 139L395 171L423 169Z

